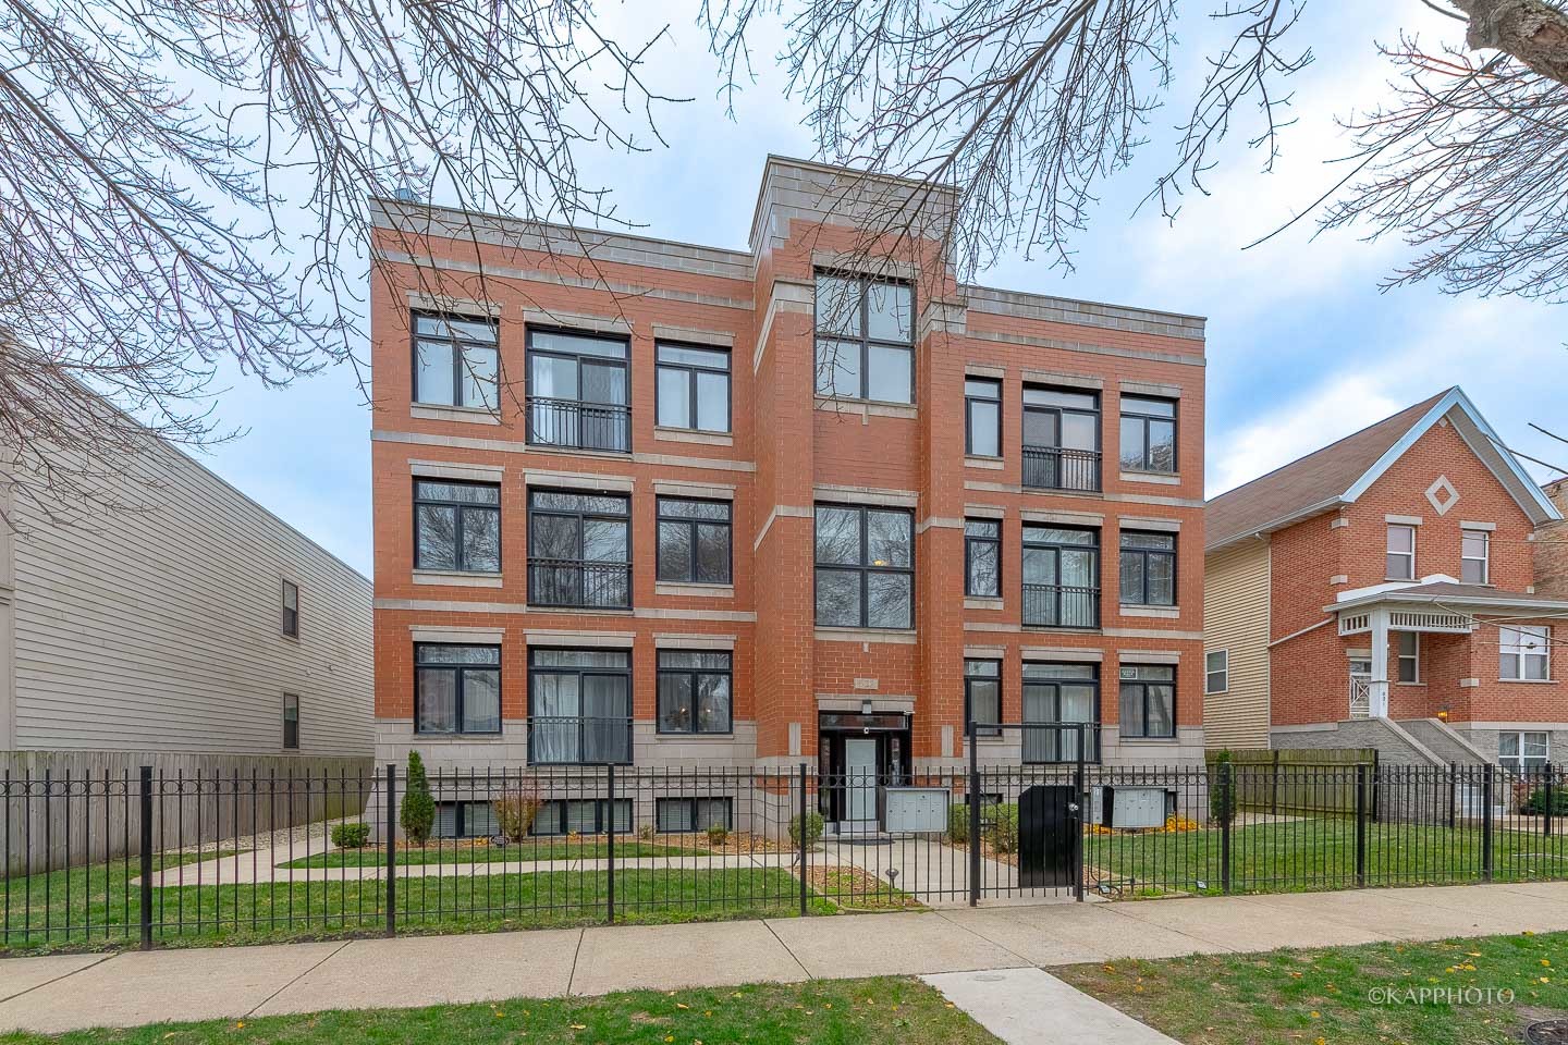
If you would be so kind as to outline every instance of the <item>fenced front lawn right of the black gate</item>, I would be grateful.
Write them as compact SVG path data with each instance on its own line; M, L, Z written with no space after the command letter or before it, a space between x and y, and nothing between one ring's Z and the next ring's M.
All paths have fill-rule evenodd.
M1236 827L1231 832L1231 890L1287 893L1356 885L1356 824L1316 818ZM1165 891L1223 891L1221 832L1085 835L1090 868ZM1493 832L1493 880L1568 877L1568 840L1518 830ZM1482 829L1367 824L1367 885L1480 882Z

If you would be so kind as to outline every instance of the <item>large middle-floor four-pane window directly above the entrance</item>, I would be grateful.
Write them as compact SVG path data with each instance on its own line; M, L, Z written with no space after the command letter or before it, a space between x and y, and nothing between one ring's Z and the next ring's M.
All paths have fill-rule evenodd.
M914 515L817 504L817 625L914 627Z

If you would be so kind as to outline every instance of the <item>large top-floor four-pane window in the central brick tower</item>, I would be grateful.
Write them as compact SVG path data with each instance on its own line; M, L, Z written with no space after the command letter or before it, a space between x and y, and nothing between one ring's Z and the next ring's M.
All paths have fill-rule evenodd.
M817 395L914 403L914 302L903 284L817 274Z

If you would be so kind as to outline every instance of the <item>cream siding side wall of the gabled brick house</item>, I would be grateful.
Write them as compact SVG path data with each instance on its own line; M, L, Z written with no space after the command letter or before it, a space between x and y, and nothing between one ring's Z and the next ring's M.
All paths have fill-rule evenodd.
M1269 544L1248 541L1204 559L1204 653L1229 653L1225 692L1203 700L1204 743L1269 746Z

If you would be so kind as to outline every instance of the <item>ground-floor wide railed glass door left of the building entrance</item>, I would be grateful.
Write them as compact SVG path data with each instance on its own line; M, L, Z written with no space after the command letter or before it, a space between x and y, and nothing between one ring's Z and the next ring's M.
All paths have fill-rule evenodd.
M632 761L632 656L528 650L528 761Z

